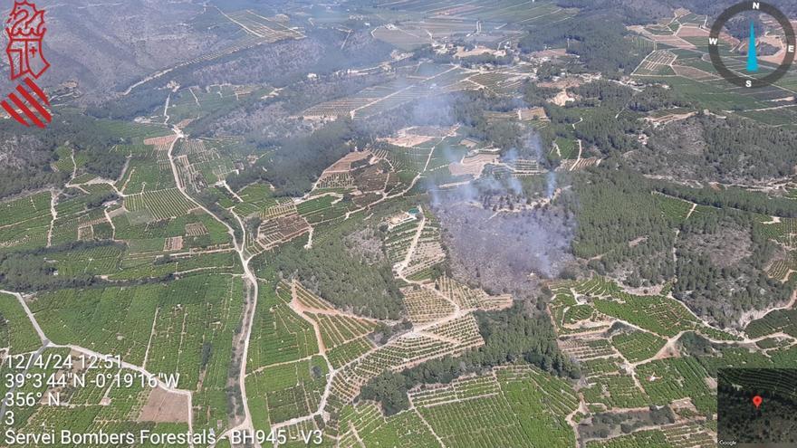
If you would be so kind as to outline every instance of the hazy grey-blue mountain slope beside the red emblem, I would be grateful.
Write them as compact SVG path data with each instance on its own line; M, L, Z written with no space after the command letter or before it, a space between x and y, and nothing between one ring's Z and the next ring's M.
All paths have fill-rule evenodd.
M41 81L47 87L78 81L85 100L108 97L230 40L218 29L198 25L195 19L205 8L192 2L49 3L37 4L46 11L44 54L52 64ZM0 80L7 83L9 66L0 59Z

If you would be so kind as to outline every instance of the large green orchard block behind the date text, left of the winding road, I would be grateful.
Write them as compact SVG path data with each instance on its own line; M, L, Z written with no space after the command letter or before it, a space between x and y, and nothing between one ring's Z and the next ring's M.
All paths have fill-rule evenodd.
M231 349L233 326L240 319L240 305L235 305L232 299L243 293L240 281L227 279L224 281L220 276L211 276L203 281L195 277L191 281L174 281L172 284L151 287L38 294L29 302L34 319L42 323L44 334L51 338L51 343L72 348L72 359L91 353L117 355L131 364L148 368L159 378L168 377L170 388L141 387L135 378L142 367L136 367L139 370L131 372L105 364L91 367L85 361L64 365L66 367L52 364L54 369L51 367L50 372L53 374L59 368L61 370L57 375L61 376L66 373L71 376L85 374L87 386L61 390L52 386L50 394L59 393L60 400L66 406L39 403L34 408L24 409L27 411L25 413L15 413L16 418L27 429L45 425L48 428L73 427L82 431L117 431L137 422L143 428L167 431L185 428L185 424L190 422L188 414L196 410L197 416L193 420L195 427L210 428L212 422L213 429L223 429L216 422L226 419L225 389L230 358L225 353ZM213 287L208 288L211 285ZM208 295L197 298L197 288L204 288ZM228 291L224 291L224 288ZM217 306L216 303L209 307L199 305L205 301L210 304L216 299L219 300ZM192 301L197 304L193 305L195 310L191 310ZM185 307L182 308L186 314L181 319L183 323L180 328L161 327L158 324L159 317L174 314L176 309L169 310L169 302ZM12 305L18 302L4 300L4 303L6 321L3 335L10 340L14 352L17 348L28 350L41 346L42 342L22 308L14 310ZM60 309L61 306L66 308ZM203 329L206 317L197 319L201 317L201 312L216 315L215 319L220 325ZM189 317L192 314L194 318ZM89 320L97 326L86 326L85 322ZM56 321L58 323L53 327ZM59 350L62 352L61 358L69 352ZM168 357L158 353L168 353ZM42 356L45 355L47 351ZM69 369L72 370L67 372ZM110 380L100 382L102 378L97 379L117 375L134 380L117 385ZM202 381L198 381L200 376ZM170 405L163 406L163 400ZM86 418L68 412L74 408L83 409L81 412ZM167 423L176 426L169 428Z

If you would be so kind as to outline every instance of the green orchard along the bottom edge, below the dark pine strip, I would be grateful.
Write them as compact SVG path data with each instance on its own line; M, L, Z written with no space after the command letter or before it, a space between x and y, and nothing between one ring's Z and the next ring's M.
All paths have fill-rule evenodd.
M577 398L568 387L539 371L502 368L483 377L411 391L416 409L387 418L368 402L347 406L341 417L341 440L359 436L393 446L440 446L431 430L447 446L464 443L467 437L485 446L541 440L551 446L571 446L573 434L564 418L575 410ZM528 415L533 418L525 418Z

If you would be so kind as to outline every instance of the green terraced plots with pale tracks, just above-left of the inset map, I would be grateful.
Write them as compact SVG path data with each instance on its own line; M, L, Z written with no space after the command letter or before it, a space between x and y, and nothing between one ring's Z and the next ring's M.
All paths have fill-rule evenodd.
M715 412L711 385L716 369L769 365L765 356L746 348L722 348L721 357L684 353L686 346L680 340L689 330L716 341L738 338L700 324L681 303L665 295L667 289L659 296L638 296L612 281L593 277L562 282L552 291L555 295L549 310L560 334L559 346L581 366L584 383L577 390L587 409L620 412L654 403L696 410L662 432L620 435L608 441L590 441L588 446L681 446L683 438L699 440L694 446L708 446L715 436L705 420L695 417ZM678 325L673 326L674 322ZM781 346L772 348L779 356L788 356ZM636 438L643 434L643 439Z

